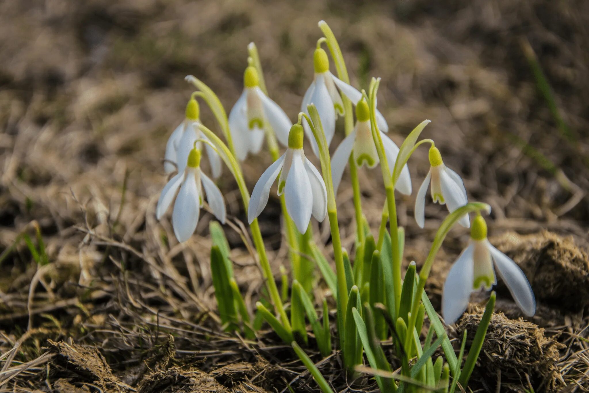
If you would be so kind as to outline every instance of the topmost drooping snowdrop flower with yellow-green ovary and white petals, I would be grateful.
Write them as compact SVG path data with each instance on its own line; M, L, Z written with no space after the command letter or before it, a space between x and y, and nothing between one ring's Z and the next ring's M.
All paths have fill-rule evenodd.
M362 93L355 87L350 86L346 82L335 77L329 71L329 59L327 53L322 48L315 49L313 54L313 67L315 68L315 77L313 78L312 84L307 89L305 96L303 97L303 103L301 104L300 111L305 112L307 115L307 105L315 104L317 113L321 118L321 124L323 131L325 131L325 138L327 139L327 146L331 143L333 135L335 134L335 121L337 116L343 116L343 101L339 91L352 101L352 104L358 103L362 100ZM337 88L336 88L337 86ZM306 119L303 118L303 127L307 138L311 141L311 147L313 153L316 156L319 155L319 149L317 148L317 142L313 137L313 133ZM380 131L387 133L389 126L386 124L386 120L378 110L376 110L376 123Z

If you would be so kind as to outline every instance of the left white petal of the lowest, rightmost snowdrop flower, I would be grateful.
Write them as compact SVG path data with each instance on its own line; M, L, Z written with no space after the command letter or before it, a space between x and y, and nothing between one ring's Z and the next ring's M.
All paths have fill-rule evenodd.
M450 325L456 322L468 306L472 293L472 243L456 259L446 277L442 293L442 316Z

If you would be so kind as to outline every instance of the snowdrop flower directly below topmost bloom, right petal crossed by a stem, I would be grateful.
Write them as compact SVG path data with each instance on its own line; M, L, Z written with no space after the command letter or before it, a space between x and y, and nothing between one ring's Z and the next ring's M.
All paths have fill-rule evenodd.
M399 154L399 148L385 133L382 131L380 133L382 144L385 147L386 161L392 171ZM331 166L333 190L335 192L337 192L337 187L342 180L343 170L346 164L348 164L350 154L353 155L356 166L358 167L366 165L369 168L374 168L379 163L378 152L376 151L372 131L370 130L368 103L366 103L364 98L356 105L356 127L354 127L354 130L349 136L344 138L335 153L333 153ZM411 176L409 175L407 164L403 167L395 188L402 194L411 194Z

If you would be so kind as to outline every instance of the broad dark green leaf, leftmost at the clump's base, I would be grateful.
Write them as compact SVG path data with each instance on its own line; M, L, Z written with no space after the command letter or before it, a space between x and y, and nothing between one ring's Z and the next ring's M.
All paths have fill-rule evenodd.
M224 259L219 247L213 246L211 248L211 276L213 277L219 316L223 324L229 323L227 329L234 329L234 324L237 323L237 313L233 299L233 289L231 289L229 283L230 276Z

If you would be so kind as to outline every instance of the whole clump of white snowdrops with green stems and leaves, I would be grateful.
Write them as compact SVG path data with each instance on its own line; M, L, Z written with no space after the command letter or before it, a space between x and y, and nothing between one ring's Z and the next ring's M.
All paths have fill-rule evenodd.
M306 312L315 331L320 351L324 355L329 353L329 326L327 324L322 327L316 323L315 311L309 309L309 307L312 308L312 302L307 294L310 290L304 289L310 288L312 275L308 273L309 270L304 270L301 266L307 256L312 253L327 285L332 289L333 295L337 296L337 326L338 329L343 329L340 332L340 344L344 364L348 368L358 364L358 359L362 358L362 345L359 343L360 339L364 340L364 338L360 332L366 331L366 325L372 326L370 328L372 330L369 329L369 331L380 339L389 337L383 315L380 312L373 313L370 311L372 309L386 309L390 316L389 320L396 321L395 345L404 348L399 349L398 354L401 358L405 356L406 366L409 367L408 358L419 352L415 352L415 346L419 344L419 340L414 342L415 336L411 332L413 329L416 329L418 335L421 332L423 313L425 313L422 303L425 280L434 263L436 252L451 227L455 223L471 227L469 213L476 214L472 222L469 245L449 270L444 285L442 315L445 322L454 323L462 315L472 292L480 289L490 290L497 283L495 269L522 312L528 316L534 315L534 293L524 273L515 262L492 246L487 239L487 223L481 216L481 212L489 213L489 206L468 201L461 176L445 165L442 154L433 140L418 141L419 135L429 120L419 124L401 147L397 146L386 134L389 131L388 124L376 108L376 94L380 80L373 79L368 92L350 85L347 71L341 72L345 70L345 64L333 33L325 22L322 21L319 25L325 38L317 41L317 48L313 54L313 81L302 97L296 123L293 123L282 108L267 96L262 69L257 58L257 49L253 44L248 47L250 58L244 71L243 93L231 109L229 117L226 117L219 99L210 88L192 76L187 77L187 80L193 82L200 91L191 95L184 120L168 140L164 170L166 173L177 170L177 174L171 177L161 191L156 208L157 219L164 216L176 197L172 215L174 234L178 241L186 242L196 230L204 195L210 211L221 223L224 223L226 208L223 196L214 181L200 168L201 150L204 147L207 152L213 179L220 176L221 161L224 161L240 189L259 263L267 280L272 306L279 318L268 311L263 303L257 303L257 311L287 342L300 340L306 342ZM339 78L329 70L327 52L321 48L323 42L327 42L332 57L336 61ZM203 98L211 107L227 144L201 123L196 97ZM355 114L355 122L353 114ZM339 116L345 118L346 135L335 148L333 156L330 156L330 143L336 133L336 119ZM305 139L314 155L319 158L321 172L305 154ZM276 140L286 147L282 155L279 154ZM250 196L241 173L240 163L248 156L263 154L261 152L264 141L267 142L274 162L260 176ZM425 225L425 200L428 187L431 188L433 202L445 204L449 214L436 232L431 251L427 259L423 261L419 275L415 275L416 265L412 264L409 266L405 280L402 280L404 230L398 226L396 219L395 190L406 196L412 194L412 179L407 163L416 148L424 143L430 145L431 167L415 197L415 222L421 228ZM383 194L386 195L378 238L372 236L365 222L358 181L359 170L372 170L377 166L380 166L385 187ZM353 261L353 267L348 254L341 247L335 202L337 189L348 167L356 210L356 258ZM293 251L290 256L294 275L293 299L288 309L291 313L290 318L286 314L287 308L283 306L283 298L286 295L280 295L274 282L257 223L257 217L266 207L276 180L278 180L277 195L280 197L283 209L285 233ZM317 247L314 246L312 217L315 217L318 222L323 222L326 217L329 217L335 273L329 273L330 267L325 262L325 257L321 256ZM386 229L388 220L390 220L390 235ZM211 263L213 260L216 261L215 263L221 263L221 265L214 265L213 269L213 275L221 275L217 276L215 281L219 308L224 309L221 319L225 318L226 326L233 326L233 328L239 319L247 324L249 316L247 310L244 311L245 306L241 306L239 318L235 311L235 306L241 305L243 300L240 300L236 283L234 280L231 281L232 269L223 270L230 266L230 262L229 260L219 262L217 259L227 256L220 253L219 249L213 251ZM305 257L303 258L302 255ZM225 285L221 285L223 280L227 280ZM283 293L287 293L284 288ZM494 305L494 295L491 299L491 305ZM382 307L379 308L379 304ZM305 307L303 308L302 305ZM369 309L361 312L365 307ZM305 311L302 311L303 309ZM324 313L326 309L327 303L324 301ZM227 316L232 315L231 310L233 310L233 316ZM436 315L429 315L429 317L432 325L438 320ZM374 321L370 318L374 318ZM421 322L419 322L420 319ZM365 323L364 326L363 323ZM248 325L247 332L252 332L252 326ZM440 339L444 339L439 331L436 331L436 334ZM362 341L362 344L366 346L368 342L374 341ZM297 351L295 344L293 348ZM297 354L304 358L304 352L301 355L301 352L297 351ZM446 356L455 355L446 353ZM439 381L444 377L444 373L439 371L441 366L440 364L431 381ZM403 373L414 377L413 372L408 373L408 368L403 368ZM316 374L313 375L317 378ZM385 389L386 384L383 379L377 377L377 381L381 389Z

